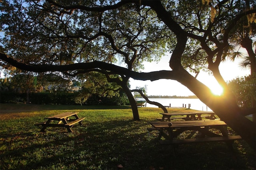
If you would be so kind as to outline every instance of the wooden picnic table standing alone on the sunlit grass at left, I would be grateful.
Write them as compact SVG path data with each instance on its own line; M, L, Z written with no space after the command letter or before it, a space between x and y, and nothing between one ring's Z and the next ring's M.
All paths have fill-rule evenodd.
M68 132L72 132L71 128L73 127L74 124L79 123L81 126L83 118L78 117L78 112L65 112L61 113L59 115L54 115L50 117L46 117L45 119L48 119L45 122L37 123L35 124L36 126L42 125L42 129L40 130L41 132L44 132L44 130L47 127L65 127L67 128ZM73 119L70 119L70 117L74 117Z

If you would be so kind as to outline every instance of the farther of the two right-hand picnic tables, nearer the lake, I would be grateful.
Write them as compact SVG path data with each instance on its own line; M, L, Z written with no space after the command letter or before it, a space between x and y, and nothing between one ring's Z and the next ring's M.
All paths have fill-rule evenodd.
M203 117L206 119L216 119L214 112L176 112L176 113L160 113L162 115L162 119L160 121L171 121L171 119L184 119L185 121L195 121L202 120ZM203 116L202 114L207 114L207 116ZM172 116L186 116L186 117L172 117ZM159 120L159 119L158 119Z

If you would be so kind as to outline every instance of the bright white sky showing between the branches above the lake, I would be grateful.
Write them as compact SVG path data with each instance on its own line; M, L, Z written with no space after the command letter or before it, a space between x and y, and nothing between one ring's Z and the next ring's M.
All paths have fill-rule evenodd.
M170 57L168 55L162 57L161 61L156 62L145 62L144 67L145 69L143 72L150 72L150 71L159 71L159 70L171 70L169 67L169 60ZM239 60L232 61L224 61L220 64L220 73L225 81L230 81L236 77L242 77L245 75L250 75L249 69L242 69L238 66ZM194 76L195 74L193 74ZM217 83L216 79L205 72L200 72L198 74L197 79L208 86L210 89L218 91L220 89L219 84ZM140 81L130 79L131 89L136 89L137 87L144 87L147 85L147 95L162 95L162 96L189 96L194 95L187 87L180 84L178 81L175 80L156 80L156 81Z

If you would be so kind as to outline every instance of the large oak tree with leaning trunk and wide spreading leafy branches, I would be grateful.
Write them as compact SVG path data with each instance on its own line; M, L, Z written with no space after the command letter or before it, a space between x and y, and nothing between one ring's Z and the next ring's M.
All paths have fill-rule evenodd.
M70 75L98 70L106 75L118 74L124 83L130 77L151 81L173 79L188 87L256 148L255 122L245 118L256 110L238 107L218 69L230 53L234 32L240 31L238 25L243 25L245 18L248 24L244 28L252 26L247 33L254 35L254 1L12 2L2 1L1 6L1 24L6 33L0 53L2 67L8 69L12 65L26 71L60 71ZM253 40L253 36L247 38ZM160 57L165 49L171 52L171 71L138 72L142 61ZM253 50L250 57L255 62ZM224 88L222 96L212 95L208 87L188 72L198 73L201 69L212 72Z

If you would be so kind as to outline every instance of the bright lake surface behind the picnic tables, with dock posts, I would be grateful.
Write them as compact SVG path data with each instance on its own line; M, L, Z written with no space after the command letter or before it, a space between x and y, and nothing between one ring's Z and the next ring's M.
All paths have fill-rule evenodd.
M149 98L150 101L155 101L161 103L163 106L170 106L171 107L182 107L186 105L188 108L188 104L190 104L190 109L195 109L198 111L212 111L209 107L206 107L202 101L199 99L162 99L162 98ZM156 105L150 105L147 103L146 107L158 107Z

